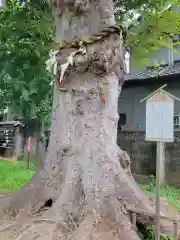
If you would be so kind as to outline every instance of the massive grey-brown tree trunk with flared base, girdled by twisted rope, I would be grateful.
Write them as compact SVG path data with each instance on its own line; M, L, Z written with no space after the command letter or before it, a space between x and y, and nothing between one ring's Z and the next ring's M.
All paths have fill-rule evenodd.
M118 226L116 236L139 239L125 208L137 207L153 213L153 207L131 176L124 152L116 143L124 45L121 29L109 27L115 25L113 3L82 0L58 4L62 12L56 16L57 40L72 41L83 36L86 43L79 52L75 45L68 48L68 44L59 50L46 159L5 210L14 215L22 209L32 213L52 204L44 216L55 217L58 223L67 225L71 216L76 222L72 239L84 239L87 225L86 239L93 239L93 231L101 232L97 225L102 221L107 225L108 219ZM94 37L87 37L92 34ZM60 64L72 52L77 52L73 54L73 66L66 69L60 83ZM62 224L57 226L62 228ZM115 239L111 234L107 236Z

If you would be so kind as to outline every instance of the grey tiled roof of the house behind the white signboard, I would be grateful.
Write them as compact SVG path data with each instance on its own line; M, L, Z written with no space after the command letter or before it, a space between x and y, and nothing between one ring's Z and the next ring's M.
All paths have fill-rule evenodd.
M172 65L161 66L158 68L152 68L145 70L143 72L129 73L125 76L126 80L145 80L150 78L155 78L158 76L168 76L180 74L180 62L176 62Z

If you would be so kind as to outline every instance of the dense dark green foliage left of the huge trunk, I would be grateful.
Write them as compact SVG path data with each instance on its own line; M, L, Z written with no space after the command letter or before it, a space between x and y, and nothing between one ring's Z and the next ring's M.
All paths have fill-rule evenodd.
M52 18L46 3L7 1L0 12L1 108L10 106L25 121L47 121L51 76L45 61L53 47Z

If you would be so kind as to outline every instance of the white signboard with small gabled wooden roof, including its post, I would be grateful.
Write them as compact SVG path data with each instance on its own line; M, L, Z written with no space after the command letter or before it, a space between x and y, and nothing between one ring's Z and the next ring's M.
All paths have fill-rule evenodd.
M156 158L156 240L160 240L160 184L164 181L165 142L174 142L174 100L179 98L157 89L140 102L146 101L146 141L157 142Z

